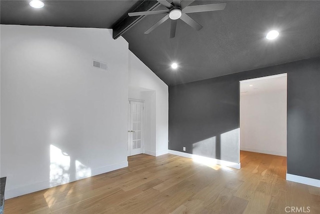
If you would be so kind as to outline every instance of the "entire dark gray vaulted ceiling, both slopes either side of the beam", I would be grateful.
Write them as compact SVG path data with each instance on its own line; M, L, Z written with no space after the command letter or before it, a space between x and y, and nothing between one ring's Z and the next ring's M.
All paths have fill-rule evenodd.
M168 85L320 56L320 1L226 2L224 10L189 13L199 31L177 21L174 38L167 20L143 32L165 14L147 15L122 36L129 49ZM112 28L136 0L46 0L35 10L28 1L1 0L1 24ZM156 9L165 8L159 6ZM275 40L265 39L277 29ZM171 63L178 64L177 69Z

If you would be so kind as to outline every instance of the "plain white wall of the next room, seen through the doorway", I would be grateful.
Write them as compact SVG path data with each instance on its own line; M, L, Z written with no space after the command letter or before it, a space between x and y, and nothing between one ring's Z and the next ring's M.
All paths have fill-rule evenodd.
M286 156L286 89L240 95L240 149Z

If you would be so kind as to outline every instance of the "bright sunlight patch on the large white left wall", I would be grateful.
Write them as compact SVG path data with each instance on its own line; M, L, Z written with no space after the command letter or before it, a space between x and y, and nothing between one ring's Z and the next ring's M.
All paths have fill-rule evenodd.
M91 176L91 169L50 145L50 187Z

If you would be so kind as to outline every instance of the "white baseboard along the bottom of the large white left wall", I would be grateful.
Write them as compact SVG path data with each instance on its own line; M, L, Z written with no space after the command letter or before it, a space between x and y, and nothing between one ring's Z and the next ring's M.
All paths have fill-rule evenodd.
M128 166L128 161L123 161L123 162L119 162L119 163L115 163L115 164L111 164L111 165L107 165L107 166L103 166L103 167L99 167L99 168L93 168L93 169L91 169L91 176L102 174L102 173L109 172L109 171L113 171L113 170L123 168L126 166ZM91 176L89 176L89 177L91 177ZM70 177L75 177L75 176L70 176ZM86 177L82 177L80 179L84 179L84 178L86 178ZM68 182L72 182L72 181L80 180L80 179L73 179L73 180L69 180ZM61 184L64 184L64 183L61 183ZM59 185L61 185L61 184L59 184ZM53 187L53 186L50 186L49 180L36 182L36 183L32 183L32 184L25 185L25 186L19 186L19 187L11 188L11 189L8 189L6 186L4 196L5 196L5 199L9 199L12 197L17 197L17 196L20 196L23 194L28 194L31 192L47 189L50 187Z

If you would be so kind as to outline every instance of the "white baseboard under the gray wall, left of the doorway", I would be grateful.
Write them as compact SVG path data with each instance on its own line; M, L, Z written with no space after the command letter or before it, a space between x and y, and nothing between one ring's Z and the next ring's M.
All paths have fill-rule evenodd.
M175 154L175 155L182 156L182 157L188 157L188 158L192 158L192 159L197 159L197 160L200 160L200 161L206 161L206 162L210 162L210 163L213 163L213 164L228 166L228 167L236 168L236 169L240 169L240 167L241 167L240 163L235 163L235 162L230 162L230 161L225 161L225 160L219 160L219 159L215 159L215 158L211 158L211 157L204 157L204 156L200 156L200 155L196 155L196 154L189 154L189 153L181 152L181 151L175 151L175 150L170 150L169 149L168 153Z

